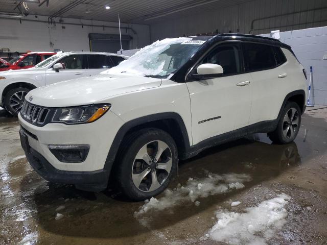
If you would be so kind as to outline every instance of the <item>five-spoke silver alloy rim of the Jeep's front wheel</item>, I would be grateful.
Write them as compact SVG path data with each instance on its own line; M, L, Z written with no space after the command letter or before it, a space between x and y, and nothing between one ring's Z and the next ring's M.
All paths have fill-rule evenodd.
M161 140L145 144L136 154L132 166L132 180L137 189L150 192L167 180L172 168L172 152Z

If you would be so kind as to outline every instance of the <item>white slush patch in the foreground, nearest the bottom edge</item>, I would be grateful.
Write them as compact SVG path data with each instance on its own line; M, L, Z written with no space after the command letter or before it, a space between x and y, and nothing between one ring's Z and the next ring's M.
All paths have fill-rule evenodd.
M247 208L245 213L218 211L218 222L206 237L228 244L267 244L266 239L286 223L285 206L290 199L288 195L281 194L256 207Z

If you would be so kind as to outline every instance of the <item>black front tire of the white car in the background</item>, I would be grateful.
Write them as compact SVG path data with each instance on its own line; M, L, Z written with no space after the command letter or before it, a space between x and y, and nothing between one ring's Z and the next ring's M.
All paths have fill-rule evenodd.
M30 90L31 89L25 87L14 88L9 90L8 93L5 95L5 100L4 100L5 109L13 116L17 116L21 109L22 103L24 103L25 101L25 96ZM15 96L15 94L18 94L18 97ZM19 105L17 104L17 106L12 106L13 100L17 101Z

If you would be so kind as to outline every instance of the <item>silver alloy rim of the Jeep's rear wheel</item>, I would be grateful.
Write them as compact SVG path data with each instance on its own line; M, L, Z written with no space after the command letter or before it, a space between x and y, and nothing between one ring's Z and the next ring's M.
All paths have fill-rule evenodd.
M295 108L290 108L284 116L283 135L287 139L293 139L299 128L299 115Z

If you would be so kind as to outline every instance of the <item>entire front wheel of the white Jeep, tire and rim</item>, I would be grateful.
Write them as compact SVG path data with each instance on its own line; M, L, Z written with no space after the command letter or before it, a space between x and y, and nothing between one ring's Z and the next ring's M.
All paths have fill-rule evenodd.
M173 138L159 129L143 129L123 142L115 164L123 193L142 201L164 191L177 169L177 146Z

